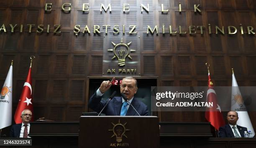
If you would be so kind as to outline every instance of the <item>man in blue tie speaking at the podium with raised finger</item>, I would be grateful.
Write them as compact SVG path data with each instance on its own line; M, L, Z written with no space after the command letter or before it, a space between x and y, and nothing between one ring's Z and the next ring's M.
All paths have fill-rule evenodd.
M113 78L110 81L103 81L100 85L100 88L91 96L89 100L89 107L95 110L97 113L100 113L102 108L106 105L108 100L101 100L102 95L111 87L111 84L115 80ZM128 99L129 103L138 111L140 115L148 115L148 107L140 100L137 100L134 96L136 94L137 80L133 77L123 78L120 85L120 93L123 93ZM138 115L136 111L127 103L123 97L114 97L110 100L109 104L105 107L102 113L106 115Z

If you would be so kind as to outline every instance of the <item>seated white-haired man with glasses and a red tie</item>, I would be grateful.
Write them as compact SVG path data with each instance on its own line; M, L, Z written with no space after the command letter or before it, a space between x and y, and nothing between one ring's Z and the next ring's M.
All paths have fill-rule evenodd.
M23 110L21 112L20 118L22 123L12 125L10 130L10 137L12 138L30 138L28 137L32 112L29 109Z

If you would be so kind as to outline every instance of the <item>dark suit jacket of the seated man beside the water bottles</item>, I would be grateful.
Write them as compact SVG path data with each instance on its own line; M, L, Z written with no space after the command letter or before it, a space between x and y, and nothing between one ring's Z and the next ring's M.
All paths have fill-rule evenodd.
M247 131L247 128L236 125L241 137L244 137L244 131ZM226 124L219 129L219 137L235 137L233 130L230 128L229 124Z

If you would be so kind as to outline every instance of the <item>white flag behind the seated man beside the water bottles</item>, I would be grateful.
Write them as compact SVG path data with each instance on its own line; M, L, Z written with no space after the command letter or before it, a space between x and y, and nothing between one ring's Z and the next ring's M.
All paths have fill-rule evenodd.
M251 130L253 136L255 135L253 126L251 124L251 120L246 110L246 106L243 102L243 97L238 88L238 84L236 82L236 77L232 74L232 96L231 96L231 110L236 111L238 113L238 121L237 125L246 127L247 130Z

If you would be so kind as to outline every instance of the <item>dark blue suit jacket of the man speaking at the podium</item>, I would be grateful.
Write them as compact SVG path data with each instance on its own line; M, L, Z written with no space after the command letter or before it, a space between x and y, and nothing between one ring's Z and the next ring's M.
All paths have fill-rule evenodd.
M105 106L105 104L108 102L108 100L102 100L102 97L97 97L96 93L94 93L89 101L89 107L92 108L92 110L96 111L97 113L100 113L102 108ZM137 100L133 97L133 101L131 103L133 107L138 111L140 115L148 115L148 107L140 100ZM114 97L108 105L105 107L105 109L102 111L102 113L105 113L106 115L120 115L122 108L122 97ZM136 111L129 106L126 115L136 116L138 115Z

